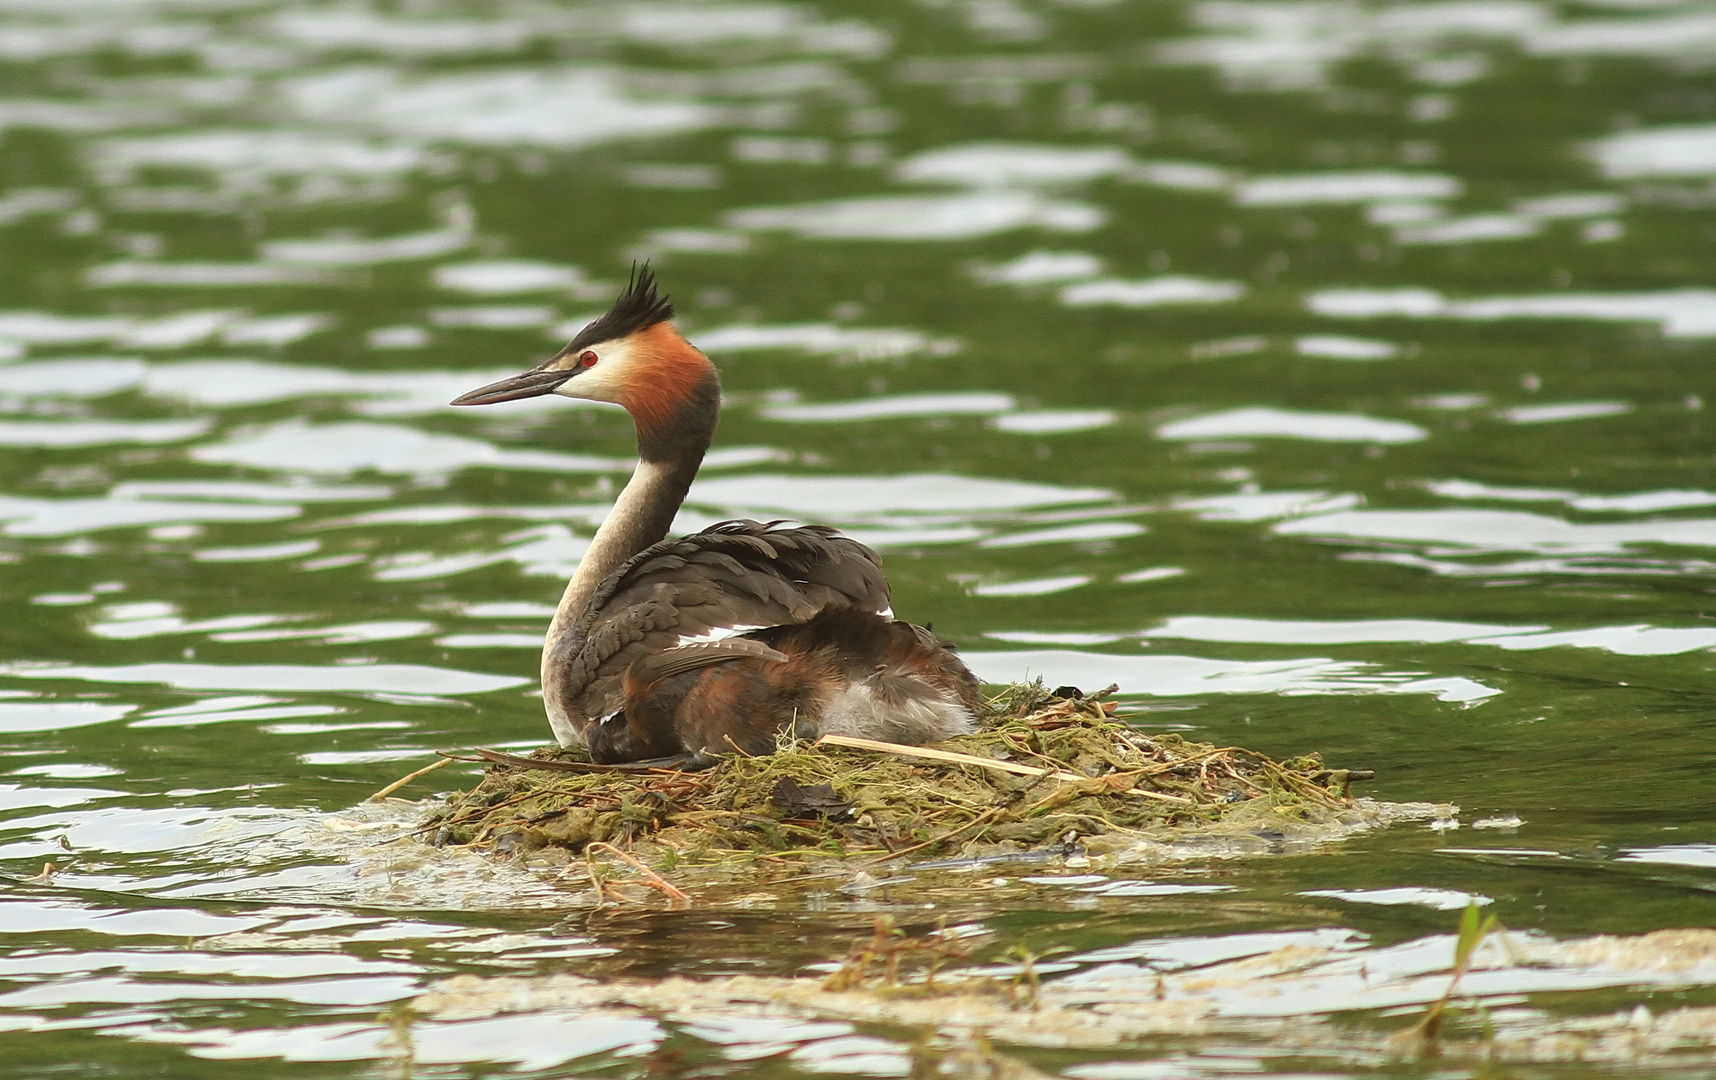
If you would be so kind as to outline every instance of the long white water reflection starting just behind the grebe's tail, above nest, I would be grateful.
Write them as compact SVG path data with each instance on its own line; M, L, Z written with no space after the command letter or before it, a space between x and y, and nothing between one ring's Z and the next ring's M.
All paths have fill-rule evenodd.
M1105 687L1122 694L1193 697L1199 694L1429 694L1436 701L1476 702L1500 694L1471 678L1433 678L1383 671L1376 664L1321 658L1229 661L1201 656L1138 656L1038 649L961 652L978 678L992 683Z

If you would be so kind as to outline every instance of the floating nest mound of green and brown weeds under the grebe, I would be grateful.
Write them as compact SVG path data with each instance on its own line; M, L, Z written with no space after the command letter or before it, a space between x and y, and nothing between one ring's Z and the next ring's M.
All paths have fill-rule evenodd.
M1014 685L988 702L982 731L935 747L782 738L776 754L702 773L590 771L553 747L494 755L505 761L436 805L419 834L549 859L597 845L671 867L1098 855L1199 833L1284 838L1296 822L1337 833L1381 824L1361 804L1388 804L1350 798L1350 781L1368 771L1145 733L1117 716L1109 692Z

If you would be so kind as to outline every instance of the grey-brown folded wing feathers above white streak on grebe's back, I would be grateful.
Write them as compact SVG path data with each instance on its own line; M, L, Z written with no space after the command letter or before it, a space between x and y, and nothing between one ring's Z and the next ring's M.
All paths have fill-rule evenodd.
M645 548L614 570L553 663L565 666L585 718L607 716L623 702L626 668L685 637L800 623L829 604L885 611L887 598L877 553L827 525L721 522Z

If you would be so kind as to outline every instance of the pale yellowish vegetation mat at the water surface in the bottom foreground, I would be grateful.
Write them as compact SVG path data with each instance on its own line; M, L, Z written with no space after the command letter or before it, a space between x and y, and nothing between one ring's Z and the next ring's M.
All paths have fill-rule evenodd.
M1685 1001L1685 991L1716 984L1709 929L1565 941L1493 932L1471 948L1448 934L1378 944L1337 929L1158 937L1129 946L1129 962L1105 950L1062 956L1042 974L1040 955L1002 953L1000 944L946 927L911 937L879 919L873 937L837 967L824 965L834 968L825 975L456 975L417 998L414 1016L659 1016L719 1042L733 1059L901 1077L1045 1075L990 1053L990 1042L1107 1051L1112 1065L1069 1077L1211 1077L1236 1063L1261 1077L1275 1071L1263 1065L1270 1058L1296 1075L1308 1059L1371 1075L1392 1059L1438 1058L1604 1063L1625 1077L1694 1066L1707 1075L1716 1049L1716 1008ZM1443 1016L1428 1039L1426 1006ZM877 1034L853 1039L851 1023ZM973 1049L983 1068L946 1065ZM1206 1054L1206 1066L1186 1051ZM868 1068L851 1068L858 1054ZM892 1068L879 1068L887 1059ZM1479 1066L1476 1075L1491 1073Z

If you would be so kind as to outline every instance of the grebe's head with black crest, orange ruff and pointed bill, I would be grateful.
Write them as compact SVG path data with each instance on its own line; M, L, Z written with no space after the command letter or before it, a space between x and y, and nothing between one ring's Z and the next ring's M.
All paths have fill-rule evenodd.
M625 292L565 349L523 374L479 386L455 405L492 405L558 393L625 405L645 458L666 443L695 441L714 429L721 381L714 364L673 328L673 300L656 273L635 268Z

